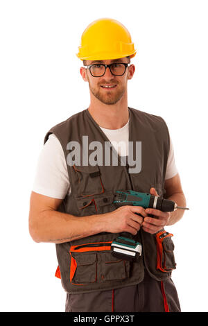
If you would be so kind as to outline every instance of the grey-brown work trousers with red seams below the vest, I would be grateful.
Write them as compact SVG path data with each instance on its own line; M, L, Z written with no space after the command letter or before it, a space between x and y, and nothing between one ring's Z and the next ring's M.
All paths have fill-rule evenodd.
M67 293L66 312L180 312L171 279L158 282L145 273L144 280L121 289Z

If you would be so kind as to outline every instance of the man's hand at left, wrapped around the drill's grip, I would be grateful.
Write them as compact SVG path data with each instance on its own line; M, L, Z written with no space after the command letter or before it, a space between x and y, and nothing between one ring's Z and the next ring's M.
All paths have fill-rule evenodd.
M122 206L113 212L107 213L105 216L106 232L129 232L136 235L141 228L144 218L135 213L141 214L144 217L148 216L145 209L141 206Z

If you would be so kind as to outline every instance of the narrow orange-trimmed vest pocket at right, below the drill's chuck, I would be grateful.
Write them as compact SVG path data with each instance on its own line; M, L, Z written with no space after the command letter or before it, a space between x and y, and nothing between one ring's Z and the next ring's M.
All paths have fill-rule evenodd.
M157 269L164 273L173 271L176 268L174 257L174 243L171 239L173 234L161 231L156 234L157 241Z

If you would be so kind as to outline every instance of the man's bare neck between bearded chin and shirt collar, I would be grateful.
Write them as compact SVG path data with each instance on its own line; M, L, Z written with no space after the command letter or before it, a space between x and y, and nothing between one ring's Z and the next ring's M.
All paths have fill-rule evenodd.
M123 96L121 100L112 105L102 103L92 96L91 94L88 111L98 126L106 129L119 129L125 126L129 119L127 96Z

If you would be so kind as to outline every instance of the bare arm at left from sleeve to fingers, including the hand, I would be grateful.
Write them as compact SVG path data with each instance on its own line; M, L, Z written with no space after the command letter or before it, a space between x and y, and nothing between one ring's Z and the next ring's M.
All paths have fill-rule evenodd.
M64 243L101 232L137 234L147 214L143 207L123 206L114 212L77 217L58 212L62 199L31 193L29 230L36 242Z

